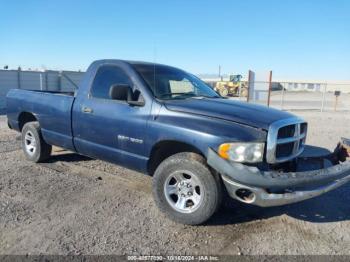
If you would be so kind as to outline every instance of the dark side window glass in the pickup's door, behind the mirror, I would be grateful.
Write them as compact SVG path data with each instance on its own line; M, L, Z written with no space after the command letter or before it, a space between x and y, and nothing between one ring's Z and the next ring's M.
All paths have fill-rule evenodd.
M130 78L117 66L101 66L91 87L91 95L96 98L110 99L109 89L114 84L131 85Z

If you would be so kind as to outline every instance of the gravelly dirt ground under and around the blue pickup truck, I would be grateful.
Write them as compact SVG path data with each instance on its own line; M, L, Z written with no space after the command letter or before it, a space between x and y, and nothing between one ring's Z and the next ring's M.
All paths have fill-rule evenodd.
M297 112L308 142L333 148L350 113ZM350 254L350 185L285 207L226 199L207 225L166 219L151 178L65 151L24 159L0 117L0 254Z

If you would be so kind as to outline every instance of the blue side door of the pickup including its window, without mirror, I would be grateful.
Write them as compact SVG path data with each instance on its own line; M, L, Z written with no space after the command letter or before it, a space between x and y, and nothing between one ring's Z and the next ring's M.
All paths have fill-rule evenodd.
M101 66L87 97L74 107L73 130L76 150L83 155L103 159L136 170L146 166L145 130L150 103L131 106L127 101L112 100L112 85L133 82L115 65Z

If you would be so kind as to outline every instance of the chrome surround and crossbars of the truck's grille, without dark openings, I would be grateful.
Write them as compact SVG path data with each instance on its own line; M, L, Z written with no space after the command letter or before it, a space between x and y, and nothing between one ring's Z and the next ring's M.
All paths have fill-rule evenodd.
M304 151L304 147L300 147L300 143L305 143L307 128L304 133L301 132L301 124L306 123L304 119L299 117L291 117L287 119L273 122L268 130L266 142L266 161L269 164L276 164L292 160L299 156ZM278 131L285 126L295 125L293 137L278 139ZM293 153L287 157L276 158L276 148L279 144L294 143Z

